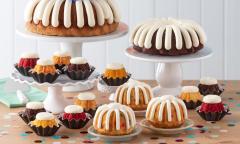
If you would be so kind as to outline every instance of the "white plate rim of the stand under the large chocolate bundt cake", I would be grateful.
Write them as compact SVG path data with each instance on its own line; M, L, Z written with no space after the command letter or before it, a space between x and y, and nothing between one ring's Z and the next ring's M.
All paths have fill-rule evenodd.
M127 48L124 53L126 56L128 56L131 59L136 59L136 60L146 61L146 62L155 62L155 63L183 63L183 62L199 61L199 60L207 59L213 56L212 49L207 46L194 54L181 55L181 56L160 56L160 55L144 54L134 50L132 47Z

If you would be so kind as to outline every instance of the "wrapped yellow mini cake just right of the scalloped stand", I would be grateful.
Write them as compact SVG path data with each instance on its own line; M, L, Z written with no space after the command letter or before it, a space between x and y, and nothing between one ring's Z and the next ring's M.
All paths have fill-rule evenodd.
M127 82L129 78L130 75L124 68L124 65L120 63L108 64L102 75L102 79L109 86L120 86Z

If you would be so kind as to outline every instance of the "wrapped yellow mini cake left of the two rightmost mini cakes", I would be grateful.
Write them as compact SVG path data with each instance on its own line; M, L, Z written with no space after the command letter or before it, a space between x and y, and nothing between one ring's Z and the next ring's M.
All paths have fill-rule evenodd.
M184 86L180 98L186 104L188 109L195 109L202 104L202 95L196 86Z

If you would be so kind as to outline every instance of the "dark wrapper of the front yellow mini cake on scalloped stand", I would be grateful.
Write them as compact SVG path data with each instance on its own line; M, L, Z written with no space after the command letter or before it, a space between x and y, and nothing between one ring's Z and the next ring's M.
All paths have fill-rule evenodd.
M36 72L31 72L32 78L37 81L38 83L53 83L59 76L58 73L55 73L54 75L52 74L43 74L43 73L36 73Z

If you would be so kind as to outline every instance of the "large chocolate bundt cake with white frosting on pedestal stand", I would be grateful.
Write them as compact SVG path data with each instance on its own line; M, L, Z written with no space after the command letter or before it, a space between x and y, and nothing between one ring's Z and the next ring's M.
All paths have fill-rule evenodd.
M194 21L163 18L136 26L130 41L139 52L177 56L202 49L206 35L203 28Z

